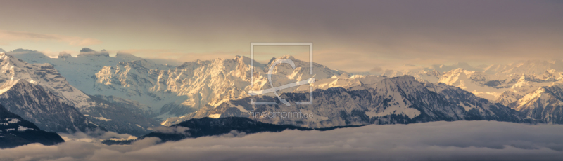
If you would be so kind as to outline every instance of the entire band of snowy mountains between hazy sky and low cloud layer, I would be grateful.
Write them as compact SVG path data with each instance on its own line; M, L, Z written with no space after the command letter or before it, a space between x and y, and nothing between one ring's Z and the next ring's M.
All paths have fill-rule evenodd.
M288 59L294 66L279 64ZM232 116L291 129L442 120L563 124L560 60L364 74L317 63L310 74L309 62L291 55L251 61L236 56L176 63L89 48L48 57L18 49L0 53L0 104L33 130L138 137L160 126ZM290 83L296 84L277 88ZM272 88L277 93L268 92Z

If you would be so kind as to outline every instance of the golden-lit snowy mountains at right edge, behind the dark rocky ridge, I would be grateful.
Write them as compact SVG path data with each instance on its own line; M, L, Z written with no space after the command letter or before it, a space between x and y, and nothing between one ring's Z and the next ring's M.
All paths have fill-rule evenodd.
M432 76L427 73L436 73L434 69L394 71L384 73L384 76L411 75L424 82L453 85L491 102L526 113L529 118L545 123L560 123L557 118L563 115L557 109L562 106L555 98L557 87L563 85L563 61L529 60L491 65L483 69L472 66L467 68L438 71L438 74ZM550 104L546 102L547 97L550 97Z

